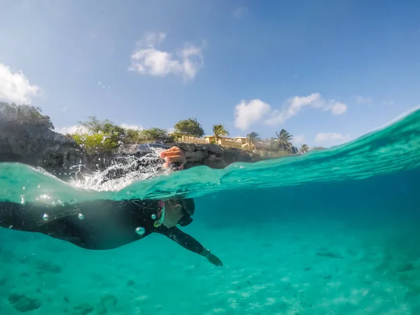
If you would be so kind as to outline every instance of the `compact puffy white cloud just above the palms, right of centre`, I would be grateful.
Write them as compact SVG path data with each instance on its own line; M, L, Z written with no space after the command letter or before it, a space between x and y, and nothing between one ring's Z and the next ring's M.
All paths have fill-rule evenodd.
M235 106L235 127L246 130L253 123L258 122L271 111L269 104L260 99L244 100Z

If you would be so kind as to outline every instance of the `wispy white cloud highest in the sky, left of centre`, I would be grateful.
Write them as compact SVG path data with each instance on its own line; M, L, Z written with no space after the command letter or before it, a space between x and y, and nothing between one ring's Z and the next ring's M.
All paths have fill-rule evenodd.
M204 58L202 47L186 43L174 57L171 52L158 50L156 46L165 41L166 34L150 33L137 43L137 48L131 56L130 71L143 75L165 77L169 73L181 76L184 80L195 78L197 71L202 69Z

